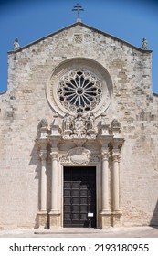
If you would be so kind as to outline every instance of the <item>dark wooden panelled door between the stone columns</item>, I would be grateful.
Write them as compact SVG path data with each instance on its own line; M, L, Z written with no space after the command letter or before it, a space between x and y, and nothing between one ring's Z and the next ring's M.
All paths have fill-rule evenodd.
M96 227L95 167L64 168L64 227Z

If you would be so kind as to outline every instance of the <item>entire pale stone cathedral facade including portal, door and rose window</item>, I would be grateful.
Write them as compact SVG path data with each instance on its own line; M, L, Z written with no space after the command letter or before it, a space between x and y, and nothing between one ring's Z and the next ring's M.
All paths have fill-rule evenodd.
M80 21L8 52L0 229L158 225L151 62Z

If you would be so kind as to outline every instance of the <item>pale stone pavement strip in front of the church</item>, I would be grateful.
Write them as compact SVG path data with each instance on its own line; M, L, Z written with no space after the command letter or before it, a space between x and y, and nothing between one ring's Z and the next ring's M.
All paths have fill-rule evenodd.
M158 238L158 227L7 229L0 238Z

